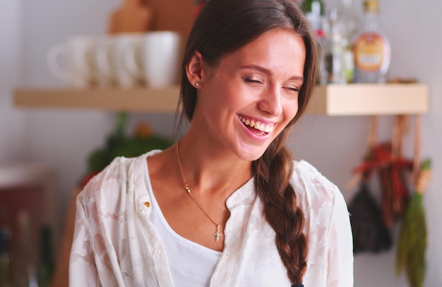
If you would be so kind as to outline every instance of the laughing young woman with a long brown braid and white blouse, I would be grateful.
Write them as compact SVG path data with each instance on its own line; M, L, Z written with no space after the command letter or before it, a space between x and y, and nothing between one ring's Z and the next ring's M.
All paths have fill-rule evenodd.
M71 286L352 286L342 194L284 146L317 73L294 2L208 1L182 66L189 128L80 193Z

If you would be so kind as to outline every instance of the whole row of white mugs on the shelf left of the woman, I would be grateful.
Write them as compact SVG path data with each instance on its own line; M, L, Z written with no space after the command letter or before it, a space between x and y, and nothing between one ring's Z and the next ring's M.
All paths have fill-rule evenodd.
M70 37L51 47L51 74L73 88L164 88L177 84L181 37L174 31Z

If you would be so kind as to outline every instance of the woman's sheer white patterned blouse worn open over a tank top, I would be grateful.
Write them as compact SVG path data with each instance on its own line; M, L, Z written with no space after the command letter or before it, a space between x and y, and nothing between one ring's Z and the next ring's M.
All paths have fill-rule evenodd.
M116 158L78 195L69 286L179 286L150 221L146 157ZM291 183L309 240L305 287L353 286L350 218L338 187L305 161ZM253 180L227 199L225 249L210 286L290 286Z

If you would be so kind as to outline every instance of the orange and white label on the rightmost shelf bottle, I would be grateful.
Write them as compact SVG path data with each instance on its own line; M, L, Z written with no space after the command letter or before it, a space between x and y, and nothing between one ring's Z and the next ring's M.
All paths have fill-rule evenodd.
M386 41L378 33L362 33L353 45L354 64L361 71L381 70Z

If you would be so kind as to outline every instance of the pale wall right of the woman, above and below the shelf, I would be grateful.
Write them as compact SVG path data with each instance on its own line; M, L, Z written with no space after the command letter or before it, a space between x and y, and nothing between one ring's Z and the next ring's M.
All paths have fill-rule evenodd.
M331 6L338 0L324 0ZM362 7L362 0L354 0ZM430 112L422 116L421 158L431 158L433 174L425 194L429 225L429 246L426 254L427 273L424 286L442 286L442 2L424 0L379 0L381 28L392 44L390 76L415 77L430 87ZM413 118L412 118L413 119ZM379 139L390 139L392 117L381 117ZM310 160L324 175L338 184L348 200L354 191L346 192L350 170L358 165L366 148L368 117L306 117L301 134L294 136L295 151ZM412 157L413 125L405 141L404 156ZM301 143L299 143L301 137ZM393 233L394 234L394 233ZM354 286L408 286L404 274L395 276L395 250L384 254L357 255L354 260Z

